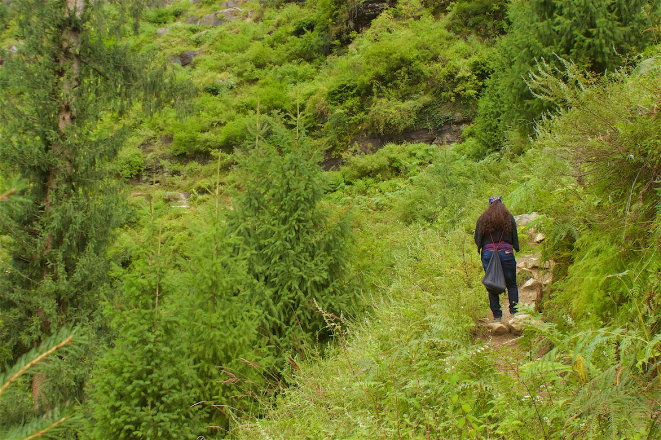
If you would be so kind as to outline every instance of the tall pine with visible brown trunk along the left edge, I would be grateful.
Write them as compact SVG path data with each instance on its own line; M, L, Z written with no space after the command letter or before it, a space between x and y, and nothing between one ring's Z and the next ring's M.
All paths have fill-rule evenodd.
M128 11L141 3L122 5ZM157 108L169 96L160 93L165 71L147 71L149 60L118 42L122 26L108 20L109 7L90 0L11 5L23 42L0 71L0 150L4 177L20 177L25 188L1 206L11 259L0 286L0 361L15 360L65 322L91 327L106 282L105 249L122 220L108 164L127 133L119 121L111 133L96 133L97 122L136 98Z

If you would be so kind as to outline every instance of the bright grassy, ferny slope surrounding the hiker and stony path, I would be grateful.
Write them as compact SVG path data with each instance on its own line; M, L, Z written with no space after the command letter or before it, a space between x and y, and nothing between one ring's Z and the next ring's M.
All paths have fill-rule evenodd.
M658 66L658 55L650 63ZM463 208L455 222L445 220L446 206L439 200L424 201L423 194L444 185L444 172L435 172L447 166L440 155L407 189L391 192L386 206L354 197L362 216L370 219L361 225L364 234L373 233L366 248L390 249L389 258L378 262L387 270L371 278L379 292L373 296L375 309L366 317L332 321L338 346L293 369L290 387L275 404L267 403L266 418L249 420L241 435L658 435L660 383L654 352L661 344L655 306L661 284L661 215L658 194L650 191L656 187L658 192L658 175L654 177L654 168L642 170L656 163L658 172L661 130L654 102L661 96L654 86L658 75L645 77L643 70L578 94L571 103L574 109L545 123L539 140L525 145L527 152L512 162L474 164L451 155L454 168L449 173L459 182L451 199ZM636 106L648 111L633 113ZM637 133L639 145L649 146L635 150L647 158L634 168L650 173L645 183L637 186L635 173L625 164L619 165L617 177L609 175L614 162L608 165L606 156L595 159L588 147L583 156L576 154L579 145L595 133L608 133L608 127L616 132L593 142L592 153L613 154L609 160L617 160L621 148L632 148L634 154L626 140ZM617 147L618 142L623 143ZM372 160L379 162L387 154L381 151ZM587 182L577 182L580 174L572 162L587 173ZM351 175L352 167L356 163L345 174ZM368 190L373 202L384 197L379 185L387 187L372 181ZM626 222L619 208L627 187L640 200L637 212L627 214L639 225L623 240ZM491 194L505 195L514 214L544 214L549 235L545 253L559 259L555 272L561 279L547 301L548 322L526 330L518 358L511 356L514 347L495 353L475 338L475 319L488 308L471 231ZM412 199L434 205L441 215L426 225L397 222L397 208L410 206ZM381 230L383 222L389 228ZM568 239L572 233L563 232L563 222L573 222L577 239ZM575 245L568 249L567 241ZM630 287L609 283L613 276ZM502 362L512 363L510 371L516 375L500 371Z

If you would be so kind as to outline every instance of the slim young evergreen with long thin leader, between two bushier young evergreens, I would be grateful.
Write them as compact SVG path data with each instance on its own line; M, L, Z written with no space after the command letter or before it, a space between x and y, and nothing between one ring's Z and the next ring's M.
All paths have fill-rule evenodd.
M215 204L208 206L200 222L191 228L194 239L182 274L188 276L190 286L182 307L190 323L187 346L200 378L195 398L204 402L197 427L211 426L214 431L217 427L231 429L231 419L226 410L218 410L226 407L213 405L241 406L231 396L245 394L254 383L263 383L260 371L244 360L269 363L265 340L258 334L260 311L251 298L245 258L231 253L237 237L228 234L221 214L217 181Z

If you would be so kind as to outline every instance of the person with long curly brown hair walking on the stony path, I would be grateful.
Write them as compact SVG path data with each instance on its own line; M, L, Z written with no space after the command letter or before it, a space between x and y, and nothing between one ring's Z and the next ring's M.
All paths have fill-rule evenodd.
M516 232L516 221L502 203L502 197L489 197L488 208L477 219L475 244L477 252L482 253L482 265L485 270L491 255L494 251L498 251L505 275L507 295L510 299L510 315L514 315L517 311L516 304L519 302L519 290L516 286L516 259L514 259L514 251L519 251L519 236ZM487 292L494 321L500 323L502 310L499 295Z

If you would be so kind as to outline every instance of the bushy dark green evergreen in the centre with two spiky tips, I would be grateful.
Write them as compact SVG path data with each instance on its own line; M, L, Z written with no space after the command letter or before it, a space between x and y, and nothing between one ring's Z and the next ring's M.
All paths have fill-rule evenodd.
M257 134L254 148L239 158L245 186L227 228L240 239L237 255L246 255L258 324L276 350L291 350L324 327L315 301L338 313L352 303L351 230L346 216L333 219L321 206L319 155L299 127L269 141Z

